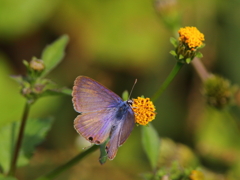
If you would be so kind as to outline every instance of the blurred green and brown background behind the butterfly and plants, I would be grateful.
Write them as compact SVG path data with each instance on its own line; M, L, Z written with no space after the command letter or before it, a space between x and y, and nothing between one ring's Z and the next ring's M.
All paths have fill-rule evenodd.
M0 0L0 127L19 121L24 106L10 75L24 74L22 60L40 57L43 48L62 34L70 37L66 56L48 76L60 86L72 88L74 79L85 75L121 96L137 78L132 97L151 97L175 64L169 38L176 32L163 21L171 15L181 19L182 27L196 26L205 35L201 52L206 68L239 84L240 1L169 2L170 6L161 0ZM193 67L186 65L155 103L157 117L152 124L161 137L192 148L211 171L238 179L238 108L231 114L209 109L201 88ZM30 117L54 116L55 122L30 165L17 171L19 179L49 172L89 145L73 128L76 115L71 97L43 98L34 104ZM113 161L101 166L98 157L97 151L57 179L130 180L151 170L140 127Z

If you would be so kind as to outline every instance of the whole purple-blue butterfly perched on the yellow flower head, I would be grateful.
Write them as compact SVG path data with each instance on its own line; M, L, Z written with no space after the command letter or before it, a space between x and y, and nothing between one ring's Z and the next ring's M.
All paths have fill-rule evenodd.
M79 112L74 128L90 143L106 144L108 159L115 158L118 147L129 137L135 125L132 100L123 101L97 81L78 76L74 81L72 102Z

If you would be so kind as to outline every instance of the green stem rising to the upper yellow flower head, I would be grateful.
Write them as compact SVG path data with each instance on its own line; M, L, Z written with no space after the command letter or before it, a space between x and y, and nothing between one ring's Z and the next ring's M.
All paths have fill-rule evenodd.
M162 86L159 88L159 90L152 96L151 100L154 102L156 101L160 95L163 93L163 91L168 87L168 85L172 82L176 74L179 72L181 67L183 66L183 63L177 62L175 66L173 67L172 71L168 75L167 79L163 82Z

